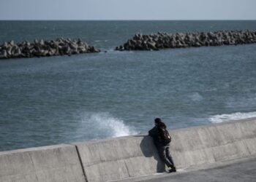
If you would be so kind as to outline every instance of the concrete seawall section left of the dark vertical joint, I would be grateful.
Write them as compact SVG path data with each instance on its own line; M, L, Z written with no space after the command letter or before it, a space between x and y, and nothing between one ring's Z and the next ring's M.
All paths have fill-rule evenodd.
M0 152L1 182L85 181L75 146Z

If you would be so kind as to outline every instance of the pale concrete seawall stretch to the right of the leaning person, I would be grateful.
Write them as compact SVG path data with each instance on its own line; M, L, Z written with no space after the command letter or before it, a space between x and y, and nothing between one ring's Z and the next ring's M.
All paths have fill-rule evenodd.
M256 119L170 131L179 168L255 154Z

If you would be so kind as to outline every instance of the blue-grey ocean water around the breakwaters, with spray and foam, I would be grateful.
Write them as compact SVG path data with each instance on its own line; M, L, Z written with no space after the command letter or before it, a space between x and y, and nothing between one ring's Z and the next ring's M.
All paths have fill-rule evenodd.
M256 21L0 21L0 44L78 39L100 53L0 61L0 151L256 116L256 44L114 51L135 33L256 31Z

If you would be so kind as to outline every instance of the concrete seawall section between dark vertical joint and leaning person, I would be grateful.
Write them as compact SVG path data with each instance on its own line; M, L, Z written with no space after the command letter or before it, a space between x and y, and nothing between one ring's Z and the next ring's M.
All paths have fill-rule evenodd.
M75 145L88 181L118 180L165 170L149 136L130 136Z

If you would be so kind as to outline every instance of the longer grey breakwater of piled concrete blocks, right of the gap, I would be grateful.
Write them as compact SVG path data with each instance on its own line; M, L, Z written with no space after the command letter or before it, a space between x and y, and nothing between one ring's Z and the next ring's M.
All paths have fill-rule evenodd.
M116 50L162 50L166 48L222 46L256 43L256 31L136 34Z

